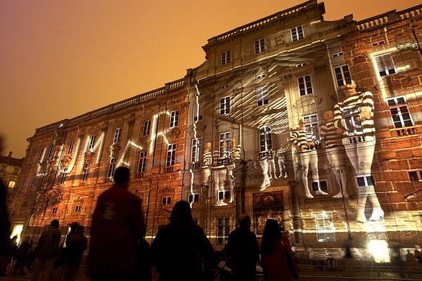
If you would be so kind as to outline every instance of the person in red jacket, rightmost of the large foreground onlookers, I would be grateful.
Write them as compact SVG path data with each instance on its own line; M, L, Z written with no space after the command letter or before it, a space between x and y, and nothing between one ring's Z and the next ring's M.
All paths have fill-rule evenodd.
M261 263L266 281L290 281L299 277L290 242L274 219L267 219L262 233Z

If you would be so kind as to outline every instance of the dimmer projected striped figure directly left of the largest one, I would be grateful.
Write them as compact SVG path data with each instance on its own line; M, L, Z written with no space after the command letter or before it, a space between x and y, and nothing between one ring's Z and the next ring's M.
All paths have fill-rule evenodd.
M338 187L340 188L338 193L333 197L341 198L343 195L347 197L345 159L343 157L345 148L341 142L340 136L338 136L333 118L334 112L332 110L324 112L324 124L319 126L319 136L321 136L321 141L325 144L328 162L331 164L331 168L335 174L335 179L337 180Z

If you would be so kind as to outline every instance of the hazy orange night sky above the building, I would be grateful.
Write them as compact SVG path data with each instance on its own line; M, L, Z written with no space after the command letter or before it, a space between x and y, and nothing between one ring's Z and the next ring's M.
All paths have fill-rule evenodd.
M0 133L25 156L40 126L184 77L207 39L304 0L0 0ZM321 1L319 1L321 2ZM355 20L419 0L326 0Z

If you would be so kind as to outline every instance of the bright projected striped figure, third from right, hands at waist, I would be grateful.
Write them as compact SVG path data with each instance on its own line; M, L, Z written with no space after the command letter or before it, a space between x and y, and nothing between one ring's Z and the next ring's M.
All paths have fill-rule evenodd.
M312 170L312 177L314 180L319 181L318 175L318 155L316 148L319 146L319 141L316 140L312 131L305 131L305 124L303 120L299 120L299 129L293 131L289 139L290 143L296 145L299 154L298 169L302 172L302 181L305 186L305 196L314 198L309 191L308 174ZM321 190L318 185L316 190L313 190L316 195L327 195L326 192Z

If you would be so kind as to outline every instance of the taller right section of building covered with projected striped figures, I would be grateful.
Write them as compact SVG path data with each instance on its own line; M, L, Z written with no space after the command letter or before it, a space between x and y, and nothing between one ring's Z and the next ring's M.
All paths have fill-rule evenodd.
M184 199L218 249L243 212L258 237L281 221L300 259L422 242L421 6L361 22L324 13L307 1L212 37L188 70Z

